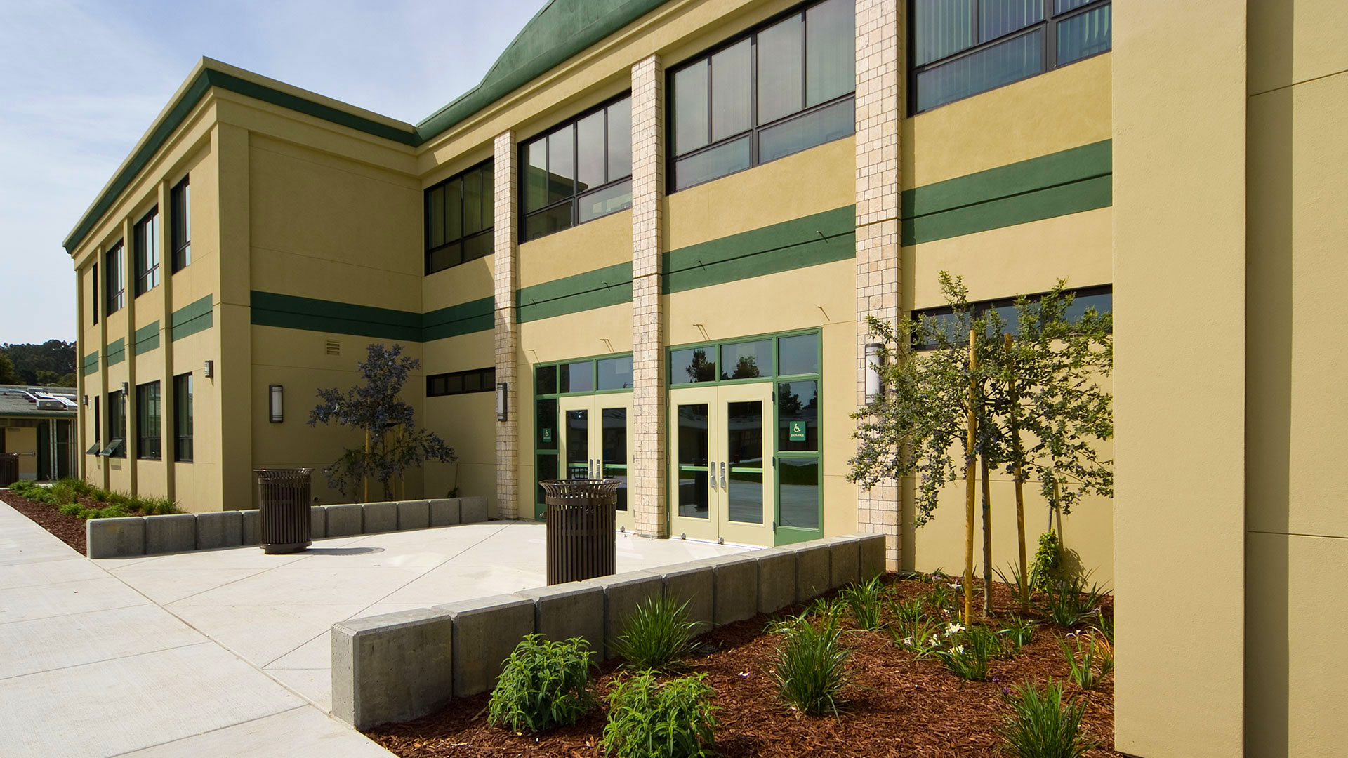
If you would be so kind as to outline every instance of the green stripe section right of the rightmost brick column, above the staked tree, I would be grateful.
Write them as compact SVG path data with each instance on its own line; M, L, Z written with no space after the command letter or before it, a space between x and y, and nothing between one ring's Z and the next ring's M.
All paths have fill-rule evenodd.
M1103 140L906 190L903 244L1108 208L1112 148Z

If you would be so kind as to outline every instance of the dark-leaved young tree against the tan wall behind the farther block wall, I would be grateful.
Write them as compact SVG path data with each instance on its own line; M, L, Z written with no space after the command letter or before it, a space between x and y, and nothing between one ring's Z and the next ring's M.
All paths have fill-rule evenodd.
M407 468L427 460L453 463L454 449L427 429L417 426L412 407L399 398L407 375L421 361L402 355L402 345L373 344L357 363L364 386L346 390L318 390L319 403L309 414L309 425L336 422L365 433L364 448L349 448L324 469L328 484L352 490L367 479L381 484L384 498L392 498L392 483ZM369 492L367 488L365 498Z

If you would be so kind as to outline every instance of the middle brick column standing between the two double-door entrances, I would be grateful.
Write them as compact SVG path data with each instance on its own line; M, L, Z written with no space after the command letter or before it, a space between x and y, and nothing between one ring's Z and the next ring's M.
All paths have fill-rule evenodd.
M628 496L636 533L669 537L665 500L665 66L651 55L632 66L632 433Z

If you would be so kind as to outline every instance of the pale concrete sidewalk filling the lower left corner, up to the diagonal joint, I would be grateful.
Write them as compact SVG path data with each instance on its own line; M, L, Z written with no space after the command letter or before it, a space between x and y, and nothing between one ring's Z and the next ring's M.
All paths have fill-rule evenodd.
M0 755L388 753L0 503Z

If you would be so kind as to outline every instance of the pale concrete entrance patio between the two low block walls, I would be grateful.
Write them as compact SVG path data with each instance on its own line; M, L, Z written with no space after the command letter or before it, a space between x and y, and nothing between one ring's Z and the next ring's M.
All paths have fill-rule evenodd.
M488 522L318 540L290 556L236 548L105 558L90 568L328 712L333 623L543 587L543 525ZM619 534L617 571L743 550Z

